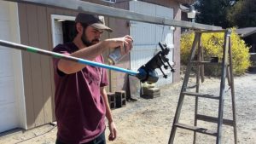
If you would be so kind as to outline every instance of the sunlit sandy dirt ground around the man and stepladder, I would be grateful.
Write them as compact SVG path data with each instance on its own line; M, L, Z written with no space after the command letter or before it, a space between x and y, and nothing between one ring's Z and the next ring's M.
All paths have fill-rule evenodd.
M189 84L194 82L192 78ZM218 95L218 78L206 78L201 84L201 92ZM135 102L127 102L125 107L113 110L113 117L118 128L116 141L108 141L109 144L166 144L168 143L172 121L177 107L180 93L180 83L167 85L161 88L160 97L154 99L139 98ZM256 144L256 74L245 74L235 78L236 95L236 120L238 143ZM227 89L226 89L227 90ZM224 118L232 119L230 90L224 97ZM185 97L180 122L193 124L195 98ZM218 101L200 99L199 112L208 116L217 117ZM199 122L198 125L216 130L216 124ZM53 144L55 143L56 127L50 124L42 127L11 132L0 136L1 144ZM108 129L106 130L108 135ZM196 143L215 143L215 137L209 135L197 135ZM193 132L177 129L174 143L193 143ZM224 125L222 143L234 143L233 128Z

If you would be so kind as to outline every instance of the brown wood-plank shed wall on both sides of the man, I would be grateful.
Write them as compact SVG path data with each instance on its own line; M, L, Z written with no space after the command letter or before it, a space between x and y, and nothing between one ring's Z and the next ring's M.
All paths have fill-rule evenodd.
M100 3L113 6L111 3L103 3L101 1L86 1L91 3ZM151 0L149 3L157 3L174 9L174 19L180 20L180 11L177 10L178 5L174 2L165 0ZM128 3L116 3L114 7L119 9L129 9ZM77 12L67 9L54 9L44 6L36 6L31 4L19 3L20 18L20 42L22 44L37 47L39 49L51 50L52 34L50 14L63 14L75 16ZM105 18L107 24L113 28L114 32L105 34L104 37L121 37L129 34L129 26L127 20L119 20L114 18ZM180 29L174 32L174 61L176 67L179 67L179 36ZM105 58L108 52L104 54ZM54 79L52 60L44 55L31 54L22 51L23 77L25 85L26 98L26 122L28 129L39 125L48 124L55 121L54 116ZM130 68L130 56L127 55L117 66ZM179 78L179 69L174 73L174 78ZM127 77L121 72L109 72L110 91L126 89Z

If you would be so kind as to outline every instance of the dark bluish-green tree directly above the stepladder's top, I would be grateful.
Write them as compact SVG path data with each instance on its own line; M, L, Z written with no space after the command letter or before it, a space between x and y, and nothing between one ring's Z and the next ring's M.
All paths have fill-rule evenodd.
M230 27L229 20L226 19L227 11L238 0L197 0L195 9L201 12L196 16L196 22L222 26L223 28Z

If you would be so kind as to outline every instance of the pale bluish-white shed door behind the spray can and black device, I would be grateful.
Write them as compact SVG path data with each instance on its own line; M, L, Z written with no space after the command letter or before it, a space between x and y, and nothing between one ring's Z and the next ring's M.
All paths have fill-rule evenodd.
M130 10L137 13L173 19L173 9L152 3L131 1ZM132 70L137 71L140 66L143 66L143 64L150 60L160 50L158 45L159 42L164 42L171 48L168 58L172 63L172 50L174 47L172 26L161 26L131 21L130 34L134 38L134 47L131 50ZM160 80L157 85L172 84L172 73L170 70L164 71L168 75L167 79L162 78L163 75L160 71L157 72L160 75Z

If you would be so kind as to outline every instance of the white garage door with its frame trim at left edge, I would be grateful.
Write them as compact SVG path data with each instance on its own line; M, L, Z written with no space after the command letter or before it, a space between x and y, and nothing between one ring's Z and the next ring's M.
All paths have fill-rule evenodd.
M1 1L1 40L20 42L17 19L17 5ZM26 129L21 53L0 46L0 66L0 132L17 127Z

